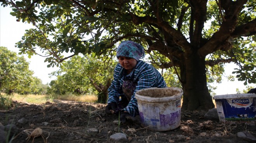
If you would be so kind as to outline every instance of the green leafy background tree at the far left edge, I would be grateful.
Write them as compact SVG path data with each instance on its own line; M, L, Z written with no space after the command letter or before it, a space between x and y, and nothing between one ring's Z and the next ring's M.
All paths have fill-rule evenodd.
M23 56L0 47L0 90L11 94L42 94L42 81L33 77Z

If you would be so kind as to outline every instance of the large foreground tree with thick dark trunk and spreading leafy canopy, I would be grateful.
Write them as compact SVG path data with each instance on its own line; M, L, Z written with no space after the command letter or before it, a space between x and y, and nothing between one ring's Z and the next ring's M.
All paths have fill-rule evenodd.
M38 46L50 56L49 66L78 53L112 56L114 44L127 39L143 44L147 53L161 55L153 63L174 69L184 110L214 107L206 81L221 75L225 63L239 65L234 73L244 84L256 83L254 0L7 0L2 5L14 7L10 14L17 21L36 27L17 43L21 53L39 54ZM73 54L64 57L64 52Z

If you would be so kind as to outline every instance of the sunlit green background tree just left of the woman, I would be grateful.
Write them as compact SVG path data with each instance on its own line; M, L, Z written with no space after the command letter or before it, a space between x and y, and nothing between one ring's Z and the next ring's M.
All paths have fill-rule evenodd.
M106 61L106 59L105 59ZM104 58L73 56L60 69L52 73L57 79L50 82L50 91L57 94L98 92L98 102L106 103L116 62L106 63Z

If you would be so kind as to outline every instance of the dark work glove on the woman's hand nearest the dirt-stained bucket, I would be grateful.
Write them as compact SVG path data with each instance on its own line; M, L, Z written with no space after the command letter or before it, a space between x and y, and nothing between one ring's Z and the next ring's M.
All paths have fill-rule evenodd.
M128 112L122 112L120 115L120 121L123 124L133 125L135 128L140 126L140 119L131 116Z

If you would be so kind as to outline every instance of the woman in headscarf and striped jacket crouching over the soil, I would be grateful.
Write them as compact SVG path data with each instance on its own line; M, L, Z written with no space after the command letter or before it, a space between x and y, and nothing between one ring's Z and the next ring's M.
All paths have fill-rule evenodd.
M108 89L106 113L118 114L121 111L120 120L123 123L139 114L136 91L150 87L166 87L156 68L140 60L144 56L143 46L133 41L123 41L116 51L119 63L114 69L114 80Z

